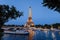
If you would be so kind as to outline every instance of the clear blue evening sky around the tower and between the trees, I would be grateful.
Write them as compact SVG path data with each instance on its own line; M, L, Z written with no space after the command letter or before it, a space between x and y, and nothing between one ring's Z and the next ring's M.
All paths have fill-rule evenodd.
M6 24L25 24L28 19L29 6L32 7L32 18L34 24L53 24L60 23L60 14L53 10L43 7L43 0L0 0L0 4L9 6L14 5L17 10L23 11L23 15L16 20L9 20Z

